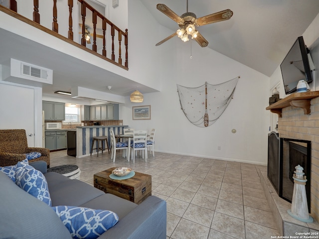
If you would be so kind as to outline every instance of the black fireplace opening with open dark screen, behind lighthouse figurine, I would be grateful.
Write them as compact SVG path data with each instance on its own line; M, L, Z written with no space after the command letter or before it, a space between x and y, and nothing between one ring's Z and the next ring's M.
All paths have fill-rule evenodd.
M280 138L272 132L268 136L268 178L278 195L290 202L294 192L294 171L297 165L304 168L307 177L308 210L311 208L311 141Z

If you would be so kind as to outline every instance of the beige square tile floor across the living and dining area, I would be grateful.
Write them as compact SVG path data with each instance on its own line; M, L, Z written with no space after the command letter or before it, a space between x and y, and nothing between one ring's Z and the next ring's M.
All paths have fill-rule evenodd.
M93 174L129 166L152 175L152 195L167 202L166 239L270 239L280 236L257 168L266 166L155 152L135 164L117 153L75 158L66 150L50 153L51 167L76 164L80 180L93 185ZM177 171L176 171L177 170Z

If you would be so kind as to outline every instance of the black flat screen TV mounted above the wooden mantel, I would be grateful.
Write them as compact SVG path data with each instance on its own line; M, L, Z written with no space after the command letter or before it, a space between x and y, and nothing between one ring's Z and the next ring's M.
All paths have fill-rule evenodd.
M304 38L300 36L281 63L286 95L297 91L297 84L300 80L305 80L307 83L313 81L308 53Z

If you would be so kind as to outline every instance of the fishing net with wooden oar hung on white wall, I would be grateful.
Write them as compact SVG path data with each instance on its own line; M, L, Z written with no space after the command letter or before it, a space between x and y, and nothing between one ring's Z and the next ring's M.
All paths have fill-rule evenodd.
M181 110L198 127L213 124L223 114L234 94L240 76L218 84L189 88L177 85Z

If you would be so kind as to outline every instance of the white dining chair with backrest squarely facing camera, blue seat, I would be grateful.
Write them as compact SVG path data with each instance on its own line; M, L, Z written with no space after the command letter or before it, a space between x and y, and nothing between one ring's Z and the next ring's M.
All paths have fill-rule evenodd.
M135 163L135 152L138 150L142 150L142 157L144 158L145 152L145 162L148 158L148 147L147 147L147 137L148 130L137 130L134 131L133 140L131 140L131 148L132 148L132 160Z

